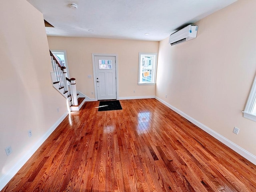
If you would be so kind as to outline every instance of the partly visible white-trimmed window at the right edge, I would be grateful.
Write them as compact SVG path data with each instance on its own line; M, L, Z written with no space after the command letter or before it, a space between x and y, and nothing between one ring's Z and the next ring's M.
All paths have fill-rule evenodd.
M243 113L245 118L256 121L256 76Z

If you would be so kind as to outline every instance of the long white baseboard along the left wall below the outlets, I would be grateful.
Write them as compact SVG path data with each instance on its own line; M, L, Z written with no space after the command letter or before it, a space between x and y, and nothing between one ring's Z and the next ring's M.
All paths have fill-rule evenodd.
M58 127L58 125L64 120L68 115L66 111L56 123L33 145L33 147L13 166L6 174L0 178L0 190L6 186L6 184L12 179L12 177L22 168L22 166L29 160L29 158L38 150L38 148L43 144L43 142L52 134L52 132Z

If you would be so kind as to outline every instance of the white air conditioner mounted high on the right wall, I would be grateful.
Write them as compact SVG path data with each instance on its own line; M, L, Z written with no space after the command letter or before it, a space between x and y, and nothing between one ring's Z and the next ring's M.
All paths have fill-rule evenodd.
M170 35L171 46L196 38L198 26L188 25Z

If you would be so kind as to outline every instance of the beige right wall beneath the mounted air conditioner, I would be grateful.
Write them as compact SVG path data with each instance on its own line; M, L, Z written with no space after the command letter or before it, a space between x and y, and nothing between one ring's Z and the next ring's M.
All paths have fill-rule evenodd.
M256 74L255 21L256 1L238 1L197 22L196 39L162 40L156 82L157 97L254 155L256 122L242 110Z

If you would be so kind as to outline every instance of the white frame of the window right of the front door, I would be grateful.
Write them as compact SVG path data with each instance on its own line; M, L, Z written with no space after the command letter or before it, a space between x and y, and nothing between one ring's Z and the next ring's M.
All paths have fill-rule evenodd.
M140 82L140 79L142 74L140 71L141 65L141 57L142 56L154 56L154 61L151 63L152 65L152 81L151 82ZM139 53L139 70L138 70L138 85L155 85L156 84L156 69L157 69L157 58L158 58L158 53L144 53L140 52Z

